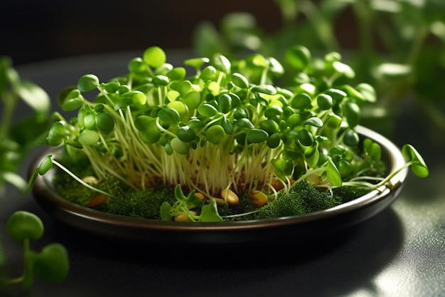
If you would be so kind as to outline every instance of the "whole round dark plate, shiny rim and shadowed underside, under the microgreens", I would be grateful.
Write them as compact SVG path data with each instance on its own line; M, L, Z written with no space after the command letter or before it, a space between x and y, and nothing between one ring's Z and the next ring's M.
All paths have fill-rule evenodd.
M382 135L358 127L360 137L380 143L389 170L404 164L400 150ZM48 152L36 159L36 168ZM51 174L38 177L33 196L56 219L77 229L107 239L136 244L247 244L311 240L354 226L387 208L400 194L408 170L391 179L392 187L381 187L363 197L320 212L278 219L245 222L181 223L107 214L68 202L55 192ZM48 172L50 173L50 172Z

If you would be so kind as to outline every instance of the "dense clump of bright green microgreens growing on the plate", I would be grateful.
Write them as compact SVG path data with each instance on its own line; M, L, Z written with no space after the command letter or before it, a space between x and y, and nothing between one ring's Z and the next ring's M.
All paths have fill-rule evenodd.
M87 74L63 90L58 102L77 117L55 113L48 143L63 144L73 159L87 157L98 180L112 177L135 190L174 187L176 202L161 207L166 220L220 221L217 204L237 204L242 192L277 197L306 179L328 189L387 182L380 146L368 139L358 149L360 110L376 100L372 86L348 84L354 71L338 53L313 58L293 46L284 62L295 76L281 87L274 81L285 67L275 58L193 58L184 62L194 68L189 74L167 63L161 48L148 48L126 75L102 82ZM85 98L90 92L94 100ZM427 176L414 147L404 147L404 156L405 167ZM69 172L47 157L31 185L50 164ZM192 212L200 206L201 214Z

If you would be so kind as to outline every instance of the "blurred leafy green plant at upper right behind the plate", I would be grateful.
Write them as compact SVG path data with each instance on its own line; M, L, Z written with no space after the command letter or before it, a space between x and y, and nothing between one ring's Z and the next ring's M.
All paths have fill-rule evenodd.
M340 51L355 70L355 81L375 86L377 103L363 110L381 132L402 109L415 100L429 123L445 129L445 2L440 0L275 0L282 26L266 32L247 12L227 14L218 27L203 22L195 29L194 48L202 55L216 51L226 55L257 51L275 57L301 44L321 51ZM348 26L348 34L343 28ZM351 30L356 28L356 31ZM342 39L355 43L346 47ZM367 115L366 113L370 113ZM382 119L389 119L385 122ZM382 124L384 123L384 124ZM389 125L388 125L389 124Z

